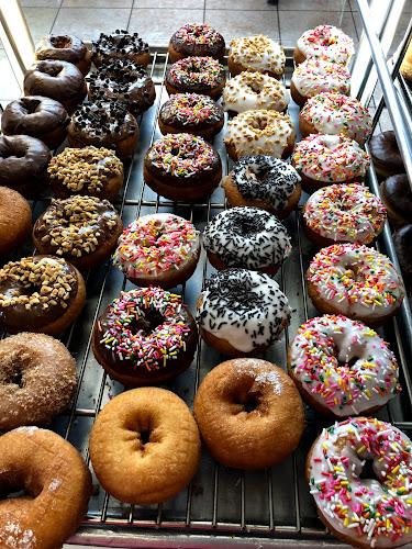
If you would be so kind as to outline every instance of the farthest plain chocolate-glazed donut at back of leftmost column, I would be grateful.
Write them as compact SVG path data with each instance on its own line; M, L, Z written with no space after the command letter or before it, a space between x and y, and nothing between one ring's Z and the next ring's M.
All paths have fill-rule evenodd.
M47 34L38 42L34 59L58 59L73 63L86 76L91 66L91 55L86 45L71 34Z

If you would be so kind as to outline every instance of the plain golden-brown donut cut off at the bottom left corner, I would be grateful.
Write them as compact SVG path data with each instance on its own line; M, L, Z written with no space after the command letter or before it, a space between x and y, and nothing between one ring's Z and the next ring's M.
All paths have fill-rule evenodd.
M91 474L70 442L52 430L20 427L0 437L0 546L62 547L83 519ZM58 527L56 527L58 525Z

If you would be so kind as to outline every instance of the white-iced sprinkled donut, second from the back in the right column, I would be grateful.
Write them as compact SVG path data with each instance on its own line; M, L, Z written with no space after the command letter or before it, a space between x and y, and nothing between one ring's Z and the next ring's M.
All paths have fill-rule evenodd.
M310 57L298 65L290 80L290 94L299 107L303 107L309 98L322 93L350 92L350 74L338 63Z

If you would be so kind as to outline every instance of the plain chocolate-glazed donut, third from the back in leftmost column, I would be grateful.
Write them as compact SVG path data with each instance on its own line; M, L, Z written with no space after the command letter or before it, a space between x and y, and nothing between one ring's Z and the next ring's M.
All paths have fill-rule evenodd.
M69 117L62 103L42 96L27 96L9 103L1 115L4 135L31 135L48 148L65 141Z

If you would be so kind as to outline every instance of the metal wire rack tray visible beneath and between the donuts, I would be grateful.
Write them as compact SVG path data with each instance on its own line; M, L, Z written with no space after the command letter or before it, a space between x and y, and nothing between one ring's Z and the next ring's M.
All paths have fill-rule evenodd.
M226 208L224 192L218 188L210 200L196 203L172 203L155 194L143 181L143 158L153 141L160 136L157 126L159 108L167 99L163 81L168 56L164 47L152 48L152 64L148 70L156 83L156 102L140 120L141 138L133 158L124 163L125 183L115 205L126 226L136 216L155 212L172 212L194 223L201 232L208 221ZM286 85L289 87L292 72L292 52L286 51ZM299 108L291 101L289 114L297 132ZM223 173L232 166L223 145L225 130L218 135L213 145L223 161ZM63 147L62 147L63 148ZM374 171L368 183L375 190L377 181ZM303 193L301 204L307 200ZM45 210L51 195L33 204L33 220ZM316 248L305 238L300 226L300 209L285 220L293 250L275 277L286 293L292 309L290 326L280 340L261 357L286 370L289 341L299 326L318 315L308 298L305 271ZM390 233L386 231L382 251L391 251ZM33 244L27 243L14 257L33 254ZM198 295L204 281L214 272L201 253L194 274L183 287L176 289L183 302L194 313ZM79 386L71 407L51 428L66 437L89 462L88 441L91 426L99 411L110 399L124 391L124 386L111 381L99 366L91 350L91 329L99 314L108 303L119 296L122 290L133 285L119 269L109 261L83 273L87 285L87 301L81 315L67 330L62 340L77 361ZM412 437L412 393L408 362L412 357L410 333L408 332L407 305L397 321L389 322L379 333L390 341L401 369L403 391L377 415L389 421ZM410 327L409 327L410 329ZM2 335L4 337L4 334ZM225 357L199 340L191 367L166 386L182 397L192 407L196 391L207 376ZM160 505L131 506L109 496L93 478L94 491L89 511L78 533L69 540L83 545L108 547L313 547L322 541L327 547L342 544L323 527L318 518L313 498L304 478L304 462L308 451L323 426L330 425L321 415L305 406L307 425L298 449L285 461L270 469L241 471L216 463L203 448L199 470L191 484L176 497ZM293 417L290 417L293 421Z

